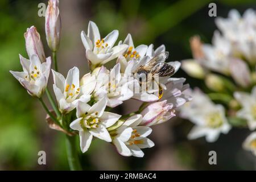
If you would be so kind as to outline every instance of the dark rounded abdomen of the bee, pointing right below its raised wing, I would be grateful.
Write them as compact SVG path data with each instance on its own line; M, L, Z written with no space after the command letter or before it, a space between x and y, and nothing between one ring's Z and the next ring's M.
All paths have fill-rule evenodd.
M155 67L151 69L152 75L158 75L159 77L174 75L175 68L167 63L158 62Z

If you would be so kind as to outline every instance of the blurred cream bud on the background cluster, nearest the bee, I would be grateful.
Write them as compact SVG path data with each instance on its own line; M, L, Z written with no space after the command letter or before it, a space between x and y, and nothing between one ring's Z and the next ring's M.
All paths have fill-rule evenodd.
M191 77L203 79L205 76L203 67L194 60L182 61L181 68Z

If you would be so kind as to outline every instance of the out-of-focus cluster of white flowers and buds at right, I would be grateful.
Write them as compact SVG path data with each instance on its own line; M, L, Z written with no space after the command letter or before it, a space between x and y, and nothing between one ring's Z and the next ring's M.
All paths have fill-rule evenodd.
M228 18L217 18L212 45L199 36L191 39L193 59L181 68L188 75L205 80L207 90L191 90L193 101L181 109L181 115L195 123L188 138L206 136L214 142L230 128L256 129L256 12L248 9L241 16L231 10ZM251 93L250 93L251 92ZM246 150L254 151L255 133L245 141Z

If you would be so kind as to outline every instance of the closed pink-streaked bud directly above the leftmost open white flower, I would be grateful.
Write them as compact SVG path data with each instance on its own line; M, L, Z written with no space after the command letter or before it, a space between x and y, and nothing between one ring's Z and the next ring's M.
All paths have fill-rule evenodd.
M31 55L38 55L40 61L45 62L46 55L44 55L43 44L36 27L32 26L27 28L27 32L24 33L24 38L26 41L28 57L31 57Z

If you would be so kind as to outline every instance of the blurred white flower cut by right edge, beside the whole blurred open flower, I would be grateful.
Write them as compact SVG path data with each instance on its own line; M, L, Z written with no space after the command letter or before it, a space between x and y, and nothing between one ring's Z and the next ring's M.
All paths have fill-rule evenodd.
M242 109L237 112L237 116L247 120L250 130L256 129L256 86L251 94L235 92L234 97L242 106Z

